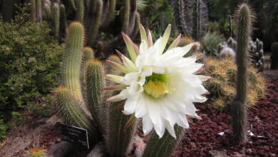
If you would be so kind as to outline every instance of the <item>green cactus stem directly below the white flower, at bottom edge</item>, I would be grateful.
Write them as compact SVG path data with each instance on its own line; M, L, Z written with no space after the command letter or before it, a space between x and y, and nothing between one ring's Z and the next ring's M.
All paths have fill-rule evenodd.
M175 148L177 148L178 143L180 142L180 137L183 135L184 128L180 126L175 126L175 134L177 138L173 138L170 133L165 132L165 135L162 138L159 138L158 135L152 133L150 140L147 143L143 157L168 157L171 156Z

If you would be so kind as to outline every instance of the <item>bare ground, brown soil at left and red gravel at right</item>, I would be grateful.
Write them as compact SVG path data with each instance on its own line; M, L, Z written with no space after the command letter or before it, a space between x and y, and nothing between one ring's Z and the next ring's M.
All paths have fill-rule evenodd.
M190 129L173 157L278 156L278 72L265 74L269 77L267 93L247 111L250 131L247 143L237 144L232 140L230 115L212 106L196 105L202 120L191 120ZM36 121L29 118L27 123L9 131L8 138L0 143L0 156L26 156L34 146L48 150L61 141L61 122L56 113Z

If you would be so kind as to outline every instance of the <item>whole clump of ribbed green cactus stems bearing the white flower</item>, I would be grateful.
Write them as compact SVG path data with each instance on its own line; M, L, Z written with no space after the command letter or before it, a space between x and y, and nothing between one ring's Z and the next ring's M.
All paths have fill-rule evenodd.
M147 37L146 37L147 38ZM62 84L56 88L56 104L59 113L66 123L85 128L90 136L91 146L99 152L109 156L127 156L133 149L133 143L138 141L139 120L135 116L126 116L118 108L120 103L104 101L118 91L105 91L106 85L113 85L106 81L104 74L119 74L108 64L94 59L93 51L89 47L83 48L83 24L75 21L68 26L63 64L61 67ZM109 64L122 65L118 56L109 57ZM84 87L82 87L84 86ZM176 135L182 135L182 128L178 128ZM147 145L136 149L136 156L170 156L175 150L178 139L165 133L159 138L153 133ZM103 148L102 148L103 147ZM100 151L99 149L102 149Z

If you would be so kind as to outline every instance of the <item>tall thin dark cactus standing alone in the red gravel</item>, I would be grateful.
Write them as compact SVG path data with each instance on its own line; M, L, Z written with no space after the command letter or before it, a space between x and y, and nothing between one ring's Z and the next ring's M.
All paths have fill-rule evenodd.
M247 4L237 11L237 96L232 113L232 129L235 139L246 139L247 61L248 44L252 27L252 13Z

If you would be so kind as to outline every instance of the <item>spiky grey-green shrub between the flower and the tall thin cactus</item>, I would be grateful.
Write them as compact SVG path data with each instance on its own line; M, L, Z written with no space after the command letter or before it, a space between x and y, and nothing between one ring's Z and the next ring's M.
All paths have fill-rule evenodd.
M205 54L217 56L217 46L223 41L225 41L225 38L221 34L217 32L207 32L202 39L202 48Z

